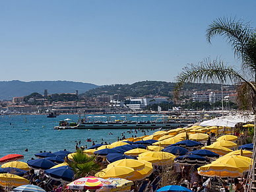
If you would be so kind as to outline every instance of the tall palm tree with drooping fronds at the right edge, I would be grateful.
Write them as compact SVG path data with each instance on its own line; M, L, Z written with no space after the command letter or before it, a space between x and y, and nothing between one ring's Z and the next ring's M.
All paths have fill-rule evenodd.
M205 59L198 65L187 65L177 77L176 96L185 82L234 82L238 85L238 104L243 112L249 110L255 115L253 144L256 146L256 34L250 22L236 18L217 18L207 28L207 40L211 43L214 36L223 36L232 46L236 57L241 61L241 71L224 65L216 59ZM245 75L246 74L246 75ZM253 180L255 154L253 150Z

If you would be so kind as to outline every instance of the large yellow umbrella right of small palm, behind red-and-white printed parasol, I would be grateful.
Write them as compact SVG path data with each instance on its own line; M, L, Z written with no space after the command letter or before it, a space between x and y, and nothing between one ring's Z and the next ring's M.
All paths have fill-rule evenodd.
M124 166L112 166L96 173L95 177L101 177L104 179L108 179L110 177L127 179L129 177L132 177L134 173L135 170L133 170L132 168L127 168Z

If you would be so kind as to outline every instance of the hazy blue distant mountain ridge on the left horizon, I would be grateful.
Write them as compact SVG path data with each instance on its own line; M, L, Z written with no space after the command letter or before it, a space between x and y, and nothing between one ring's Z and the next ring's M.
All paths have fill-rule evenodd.
M48 94L75 93L75 90L78 90L80 94L97 87L96 84L65 80L30 82L20 80L0 81L0 100L13 100L13 97L27 96L33 92L44 94L46 88Z

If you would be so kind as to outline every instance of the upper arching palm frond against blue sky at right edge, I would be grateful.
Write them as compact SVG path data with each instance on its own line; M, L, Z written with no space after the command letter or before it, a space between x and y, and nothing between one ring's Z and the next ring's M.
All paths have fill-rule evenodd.
M235 55L242 61L243 69L253 75L256 72L256 34L251 22L235 18L217 18L207 28L207 40L211 43L214 36L223 36L232 46Z

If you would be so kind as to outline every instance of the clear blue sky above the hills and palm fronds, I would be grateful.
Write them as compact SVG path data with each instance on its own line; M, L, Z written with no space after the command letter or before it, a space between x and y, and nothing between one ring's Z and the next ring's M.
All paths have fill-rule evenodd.
M255 24L256 1L0 1L0 80L174 82L187 63L221 55L239 66L215 18Z

